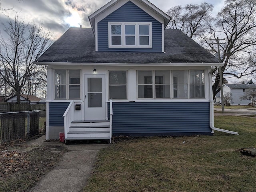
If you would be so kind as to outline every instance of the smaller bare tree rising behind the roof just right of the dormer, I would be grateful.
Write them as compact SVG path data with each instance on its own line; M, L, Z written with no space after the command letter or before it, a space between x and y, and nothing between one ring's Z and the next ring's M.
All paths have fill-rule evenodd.
M198 4L187 4L184 6L175 6L170 8L167 14L171 17L168 28L180 29L190 38L198 35L204 27L206 20L210 20L210 12L213 5L203 2Z

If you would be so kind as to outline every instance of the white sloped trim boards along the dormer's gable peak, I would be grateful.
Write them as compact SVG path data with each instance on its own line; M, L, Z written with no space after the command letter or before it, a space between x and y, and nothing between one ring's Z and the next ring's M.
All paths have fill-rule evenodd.
M155 20L157 20L158 22L160 22L161 24L164 24L164 19L159 16L158 14L154 13L152 10L150 10L150 8L144 6L143 4L141 4L140 2L138 2L138 0L122 0L117 2L116 4L114 4L111 8L109 8L108 10L106 10L105 12L103 12L102 14L100 14L99 16L96 16L95 18L95 23L100 22L101 20L103 20L104 18L106 18L109 14L111 14L112 12L116 11L117 9L119 9L120 7L122 7L124 4L126 4L128 1L131 1L132 3L134 3L136 6L138 6L139 8L141 8L144 12L146 12L147 14L149 14L150 16L152 16ZM116 2L116 1L115 1ZM113 2L114 3L114 2ZM104 7L102 7L102 9L104 10ZM156 7L155 7L156 8ZM100 10L102 10L100 9ZM98 11L100 11L98 10ZM97 12L98 12L97 11ZM96 13L96 12L95 12ZM91 15L92 16L92 15ZM91 18L91 16L89 16L89 18Z

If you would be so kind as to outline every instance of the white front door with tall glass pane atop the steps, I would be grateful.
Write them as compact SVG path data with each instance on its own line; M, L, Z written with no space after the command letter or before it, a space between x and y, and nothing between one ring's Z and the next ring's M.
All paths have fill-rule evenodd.
M85 120L105 120L105 75L84 76Z

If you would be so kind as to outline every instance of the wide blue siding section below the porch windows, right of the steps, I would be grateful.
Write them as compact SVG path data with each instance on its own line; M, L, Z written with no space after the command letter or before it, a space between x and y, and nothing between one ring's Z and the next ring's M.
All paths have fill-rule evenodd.
M209 125L209 102L113 102L116 136L210 134Z

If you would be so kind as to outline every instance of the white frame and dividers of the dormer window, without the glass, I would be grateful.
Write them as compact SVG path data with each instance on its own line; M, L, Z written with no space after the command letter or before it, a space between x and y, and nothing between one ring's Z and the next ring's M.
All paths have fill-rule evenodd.
M121 25L121 44L112 45L112 34L111 25ZM125 25L136 25L135 26L135 45L125 45ZM139 25L149 25L149 45L139 45L140 35ZM109 48L152 48L152 22L108 22L108 47Z

